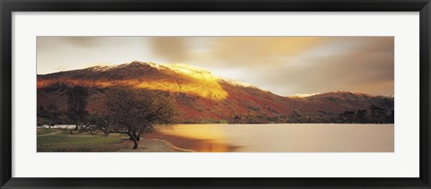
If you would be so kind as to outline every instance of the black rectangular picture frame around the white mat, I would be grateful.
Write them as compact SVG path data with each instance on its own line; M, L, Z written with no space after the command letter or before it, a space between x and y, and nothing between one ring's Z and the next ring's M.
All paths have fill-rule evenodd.
M0 0L2 188L430 188L429 0ZM418 178L37 178L12 177L13 12L419 12L420 176ZM42 170L43 171L43 170Z

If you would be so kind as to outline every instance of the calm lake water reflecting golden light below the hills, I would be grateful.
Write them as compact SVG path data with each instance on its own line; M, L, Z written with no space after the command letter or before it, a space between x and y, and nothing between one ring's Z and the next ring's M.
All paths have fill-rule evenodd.
M147 137L181 149L238 152L393 152L393 125L173 125Z

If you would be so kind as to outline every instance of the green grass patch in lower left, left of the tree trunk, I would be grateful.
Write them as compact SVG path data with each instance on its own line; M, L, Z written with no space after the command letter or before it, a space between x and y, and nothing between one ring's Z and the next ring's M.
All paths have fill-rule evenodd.
M56 131L56 129L51 130ZM39 129L38 134L40 134ZM37 146L38 152L117 151L127 147L130 148L130 144L122 142L122 139L127 138L127 136L120 134L110 134L109 136L89 133L69 134L69 131L62 130L61 133L38 136Z

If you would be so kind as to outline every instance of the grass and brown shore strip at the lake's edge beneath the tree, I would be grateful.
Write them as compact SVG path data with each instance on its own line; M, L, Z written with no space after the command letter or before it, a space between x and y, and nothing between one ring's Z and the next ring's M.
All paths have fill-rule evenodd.
M70 133L72 132L72 133ZM125 134L77 133L67 129L38 129L38 152L175 152L187 151L169 142L142 139L139 148L132 150L133 142Z

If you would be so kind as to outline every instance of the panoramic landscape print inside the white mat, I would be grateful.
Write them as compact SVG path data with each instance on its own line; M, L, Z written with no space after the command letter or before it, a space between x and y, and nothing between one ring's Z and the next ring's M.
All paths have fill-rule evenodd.
M393 152L394 39L40 36L36 108L38 152Z

